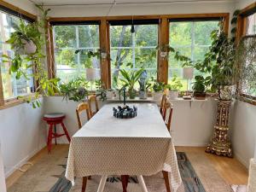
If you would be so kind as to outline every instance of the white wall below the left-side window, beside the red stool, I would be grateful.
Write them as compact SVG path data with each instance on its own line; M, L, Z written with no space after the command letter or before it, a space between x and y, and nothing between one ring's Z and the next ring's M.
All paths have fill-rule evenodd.
M43 112L43 108L32 109L27 103L0 110L0 143L6 177L45 146Z

